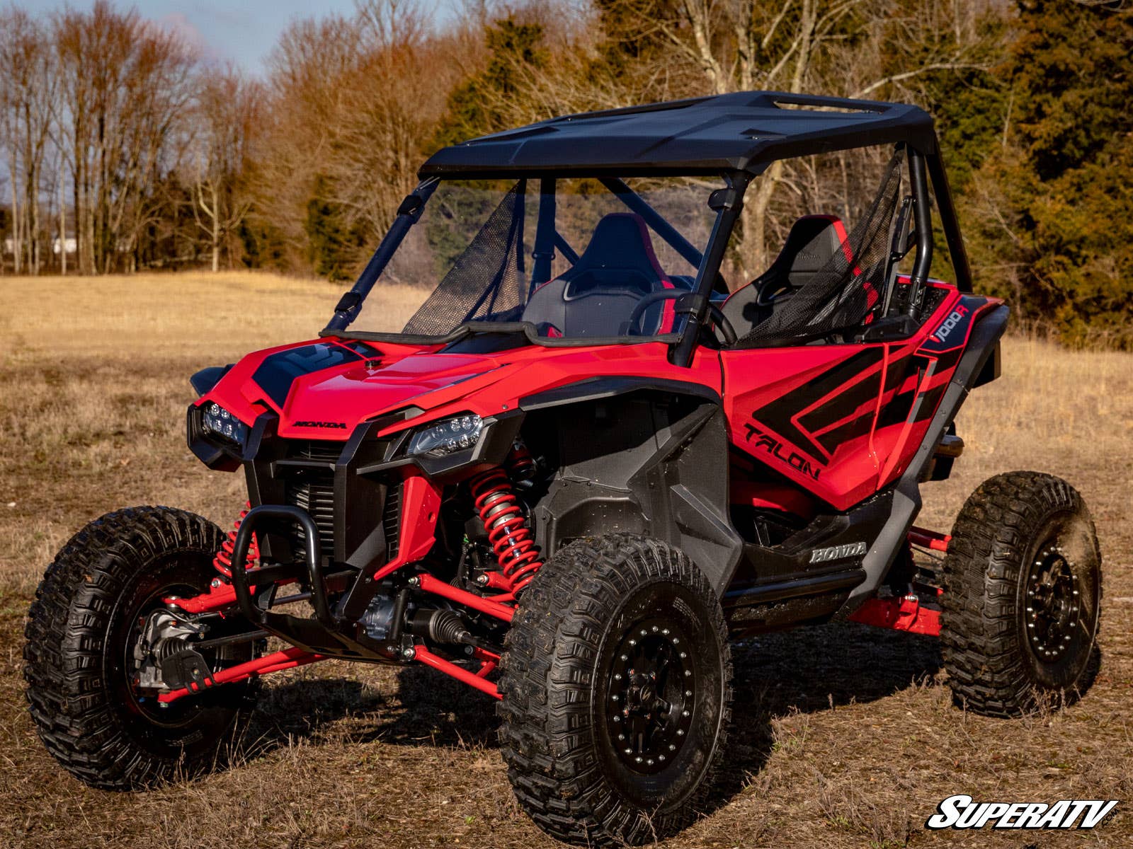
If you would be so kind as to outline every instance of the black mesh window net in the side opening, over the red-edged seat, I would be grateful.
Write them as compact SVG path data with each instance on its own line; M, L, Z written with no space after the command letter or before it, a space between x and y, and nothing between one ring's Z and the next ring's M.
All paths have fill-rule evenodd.
M808 341L863 324L885 291L889 230L901 195L903 154L889 160L866 214L806 285L775 305L735 348Z

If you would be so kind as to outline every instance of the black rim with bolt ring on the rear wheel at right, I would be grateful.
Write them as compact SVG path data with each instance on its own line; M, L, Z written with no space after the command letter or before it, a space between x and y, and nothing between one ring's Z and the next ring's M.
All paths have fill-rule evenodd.
M1056 663L1073 645L1080 607L1073 564L1059 546L1047 543L1031 566L1023 609L1026 640L1039 661Z

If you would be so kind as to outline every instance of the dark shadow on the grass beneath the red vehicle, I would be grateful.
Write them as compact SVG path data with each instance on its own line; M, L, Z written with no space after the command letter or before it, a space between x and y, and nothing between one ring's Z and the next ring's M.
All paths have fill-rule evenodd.
M872 702L931 678L940 668L935 638L860 625L768 634L735 643L732 651L733 730L717 806L767 762L776 717ZM423 667L394 675L392 693L350 678L310 678L269 688L249 729L247 739L254 743L246 754L262 756L297 741L317 745L343 737L404 746L496 746L493 700Z

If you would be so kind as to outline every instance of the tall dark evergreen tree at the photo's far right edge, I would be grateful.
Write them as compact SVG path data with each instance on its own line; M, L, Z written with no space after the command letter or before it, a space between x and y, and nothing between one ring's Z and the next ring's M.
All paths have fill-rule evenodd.
M1133 348L1133 16L1122 3L1023 0L1000 70L1014 149L986 175L1012 209L1002 261L1024 316L1072 343Z

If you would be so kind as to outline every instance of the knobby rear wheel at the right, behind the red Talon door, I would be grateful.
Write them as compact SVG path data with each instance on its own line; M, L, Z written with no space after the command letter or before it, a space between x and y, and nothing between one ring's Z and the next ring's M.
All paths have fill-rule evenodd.
M1010 472L956 517L944 560L940 641L957 704L1013 717L1065 704L1097 672L1101 554L1066 481Z

